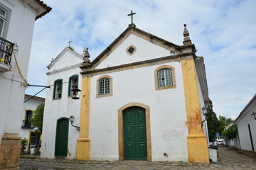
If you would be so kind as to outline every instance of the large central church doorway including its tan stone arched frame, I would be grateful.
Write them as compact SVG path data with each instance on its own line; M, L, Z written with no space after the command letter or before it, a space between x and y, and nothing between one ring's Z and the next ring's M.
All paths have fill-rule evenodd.
M118 110L119 160L151 161L149 106L129 103Z

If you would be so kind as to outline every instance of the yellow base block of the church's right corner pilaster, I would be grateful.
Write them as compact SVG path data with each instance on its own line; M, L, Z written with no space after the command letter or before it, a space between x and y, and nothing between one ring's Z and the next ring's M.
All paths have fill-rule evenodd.
M201 134L188 135L188 162L209 164L209 152L206 136Z

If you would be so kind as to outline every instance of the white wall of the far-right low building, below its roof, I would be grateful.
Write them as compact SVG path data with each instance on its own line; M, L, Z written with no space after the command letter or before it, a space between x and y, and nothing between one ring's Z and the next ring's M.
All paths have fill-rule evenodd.
M256 151L256 120L252 119L251 116L253 111L256 112L256 105L253 105L251 108L245 110L242 116L240 116L240 118L238 118L235 123L238 125L238 135L241 149L252 150L250 133L248 129L248 125L250 125L252 142Z

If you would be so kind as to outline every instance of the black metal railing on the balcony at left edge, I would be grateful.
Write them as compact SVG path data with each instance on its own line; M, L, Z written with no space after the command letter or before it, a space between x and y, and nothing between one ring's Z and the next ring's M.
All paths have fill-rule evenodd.
M0 62L11 65L14 43L0 37Z

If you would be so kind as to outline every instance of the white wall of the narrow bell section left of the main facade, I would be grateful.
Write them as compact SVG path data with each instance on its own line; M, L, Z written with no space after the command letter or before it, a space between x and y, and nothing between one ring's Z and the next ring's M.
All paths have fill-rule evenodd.
M69 60L71 59L70 57L72 57L72 55L70 55L70 52L67 51L63 53L63 56L61 56L61 59L58 62L65 62L66 66L69 64L73 65L82 62L82 57L80 58L80 60L79 58L78 60ZM75 57L75 55L73 55L73 57ZM59 65L62 65L58 62L54 65L52 70L55 69L55 66L57 67ZM57 72L48 76L48 85L50 85L51 88L46 90L46 103L43 115L41 157L54 158L56 123L58 118L69 118L70 115L74 115L75 123L73 123L73 125L80 125L80 99L73 100L72 98L68 97L68 80L69 77L73 76L74 74L78 74L79 76L78 89L81 89L82 75L80 74L80 72L81 69L79 67L74 67L73 69L66 69L62 72ZM56 79L63 79L63 91L62 98L53 100L53 84ZM75 158L75 147L78 136L79 132L69 123L68 151L70 152L70 155L67 154L68 159Z

